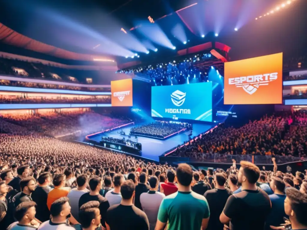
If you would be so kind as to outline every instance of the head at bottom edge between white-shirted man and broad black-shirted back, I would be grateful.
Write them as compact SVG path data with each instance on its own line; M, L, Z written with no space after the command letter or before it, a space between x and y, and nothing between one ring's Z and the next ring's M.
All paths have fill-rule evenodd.
M99 201L89 201L83 204L79 210L79 222L83 228L91 226L93 219L99 215Z

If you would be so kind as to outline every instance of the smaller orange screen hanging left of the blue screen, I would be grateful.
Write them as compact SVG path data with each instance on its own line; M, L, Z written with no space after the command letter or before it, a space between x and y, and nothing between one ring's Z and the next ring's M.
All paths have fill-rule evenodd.
M132 79L111 81L112 106L132 106Z

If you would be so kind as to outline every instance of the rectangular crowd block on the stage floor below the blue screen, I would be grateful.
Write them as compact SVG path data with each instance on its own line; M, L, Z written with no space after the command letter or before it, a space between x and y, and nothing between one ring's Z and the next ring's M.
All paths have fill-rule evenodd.
M157 138L164 138L182 129L191 128L191 124L180 122L155 121L146 125L138 125L130 129L132 135L145 135Z

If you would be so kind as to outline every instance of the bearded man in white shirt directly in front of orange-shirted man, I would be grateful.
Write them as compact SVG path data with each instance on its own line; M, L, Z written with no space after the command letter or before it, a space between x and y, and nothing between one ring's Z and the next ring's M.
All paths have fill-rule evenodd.
M71 207L67 197L61 197L50 206L51 219L45 221L39 226L39 230L75 230L67 224L67 219L70 217Z

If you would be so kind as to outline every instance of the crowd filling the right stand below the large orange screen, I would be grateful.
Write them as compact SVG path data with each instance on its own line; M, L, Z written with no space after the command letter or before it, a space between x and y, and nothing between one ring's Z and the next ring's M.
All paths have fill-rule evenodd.
M240 128L220 125L213 132L178 148L173 155L194 159L224 155L282 155L306 157L307 129L302 126L290 130L291 118L265 116Z

